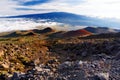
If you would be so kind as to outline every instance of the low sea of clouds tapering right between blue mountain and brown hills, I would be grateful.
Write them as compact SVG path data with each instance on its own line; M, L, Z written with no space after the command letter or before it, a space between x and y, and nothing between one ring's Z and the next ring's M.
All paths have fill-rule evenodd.
M15 30L44 29L51 27L56 30L75 30L84 26L70 26L68 24L52 22L49 20L33 20L24 18L0 18L0 32L9 32Z

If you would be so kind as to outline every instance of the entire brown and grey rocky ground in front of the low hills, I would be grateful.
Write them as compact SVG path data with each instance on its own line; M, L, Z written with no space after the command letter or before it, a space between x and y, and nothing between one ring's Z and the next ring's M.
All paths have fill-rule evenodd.
M0 80L120 80L119 38L45 36L0 38Z

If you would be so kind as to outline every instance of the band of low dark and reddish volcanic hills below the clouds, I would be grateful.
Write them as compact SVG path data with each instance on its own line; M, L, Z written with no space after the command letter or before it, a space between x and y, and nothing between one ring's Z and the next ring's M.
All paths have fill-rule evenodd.
M87 29L91 29L87 30ZM95 29L95 30L94 30ZM102 31L103 33L99 33ZM97 32L98 30L98 32ZM85 39L91 39L91 38L119 38L120 32L108 32L106 33L108 28L95 28L95 27L87 27L83 29L78 30L71 30L71 31L57 31L50 27L44 28L42 30L39 29L33 29L33 30L24 30L24 31L14 31L14 32L6 32L1 33L1 38L11 38L11 37L22 37L22 36L47 36L47 38L69 38L69 37L84 37Z

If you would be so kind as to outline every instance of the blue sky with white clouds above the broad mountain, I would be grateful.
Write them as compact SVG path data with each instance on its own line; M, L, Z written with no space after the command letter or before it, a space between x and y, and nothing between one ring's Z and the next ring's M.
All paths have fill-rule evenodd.
M120 0L0 0L0 16L48 12L120 19Z

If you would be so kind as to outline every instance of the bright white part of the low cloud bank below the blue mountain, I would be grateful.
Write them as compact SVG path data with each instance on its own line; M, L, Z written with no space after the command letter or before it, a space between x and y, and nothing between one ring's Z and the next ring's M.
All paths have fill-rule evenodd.
M46 27L52 27L57 29L61 23L57 22L47 22L46 20L38 20L35 22L34 20L26 20L26 19L6 19L0 18L0 32L8 32L14 30L30 30L30 29L43 29ZM58 27L61 29L60 27ZM67 27L68 28L68 27ZM65 28L64 28L65 29Z

